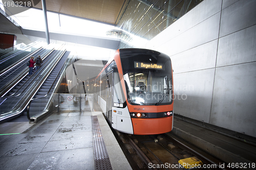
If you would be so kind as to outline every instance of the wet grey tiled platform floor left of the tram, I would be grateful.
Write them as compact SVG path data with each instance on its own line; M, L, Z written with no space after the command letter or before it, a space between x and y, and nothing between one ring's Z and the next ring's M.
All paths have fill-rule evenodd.
M132 169L101 112L53 112L37 124L22 116L0 128L1 169Z

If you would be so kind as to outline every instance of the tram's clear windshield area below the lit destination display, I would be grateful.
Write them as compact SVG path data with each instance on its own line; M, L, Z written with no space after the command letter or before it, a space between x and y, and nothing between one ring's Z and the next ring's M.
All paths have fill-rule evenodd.
M124 75L127 100L132 105L166 105L172 102L172 80L152 71Z

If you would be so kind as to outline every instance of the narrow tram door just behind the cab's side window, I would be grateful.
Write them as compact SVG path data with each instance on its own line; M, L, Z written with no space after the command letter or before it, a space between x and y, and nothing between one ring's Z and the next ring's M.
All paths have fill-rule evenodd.
M108 89L106 91L106 117L112 122L112 101L113 101L113 71L107 75Z

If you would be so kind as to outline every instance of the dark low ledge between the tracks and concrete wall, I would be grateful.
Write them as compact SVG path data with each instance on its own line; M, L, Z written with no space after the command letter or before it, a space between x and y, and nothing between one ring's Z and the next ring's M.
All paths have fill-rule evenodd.
M228 163L243 164L254 169L256 163L256 140L254 137L238 134L226 129L215 129L182 117L174 117L174 128L169 134L182 138L215 158ZM225 132L226 131L226 132Z

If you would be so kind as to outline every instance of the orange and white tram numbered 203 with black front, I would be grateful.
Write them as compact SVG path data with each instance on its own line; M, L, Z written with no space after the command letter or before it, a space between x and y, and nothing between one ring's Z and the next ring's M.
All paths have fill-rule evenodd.
M118 131L150 135L173 129L173 71L162 53L124 48L96 77L96 100Z

